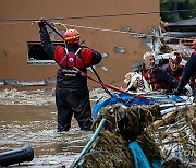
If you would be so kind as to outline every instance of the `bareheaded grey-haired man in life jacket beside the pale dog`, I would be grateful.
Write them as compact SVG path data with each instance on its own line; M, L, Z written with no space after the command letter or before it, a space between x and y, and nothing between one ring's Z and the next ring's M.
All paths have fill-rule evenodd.
M167 71L155 64L155 56L146 52L143 57L144 63L136 68L135 72L140 73L148 82L150 91L166 89L173 92L177 86L177 81ZM142 80L137 80L131 89L136 89L143 85Z

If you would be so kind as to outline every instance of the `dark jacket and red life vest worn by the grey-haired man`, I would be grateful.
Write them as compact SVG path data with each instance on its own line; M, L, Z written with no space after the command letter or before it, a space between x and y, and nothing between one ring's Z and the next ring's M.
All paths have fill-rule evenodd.
M151 91L168 89L172 91L177 86L177 82L168 72L159 67L146 70L145 65L138 67L135 72L140 73L149 84Z

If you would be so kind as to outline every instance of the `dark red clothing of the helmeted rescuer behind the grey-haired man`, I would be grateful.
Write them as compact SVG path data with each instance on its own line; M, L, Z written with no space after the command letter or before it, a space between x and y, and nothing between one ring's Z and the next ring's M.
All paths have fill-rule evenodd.
M172 71L169 64L164 64L162 69L167 71L170 75L172 75L179 82L181 80L184 65L180 64L176 71Z

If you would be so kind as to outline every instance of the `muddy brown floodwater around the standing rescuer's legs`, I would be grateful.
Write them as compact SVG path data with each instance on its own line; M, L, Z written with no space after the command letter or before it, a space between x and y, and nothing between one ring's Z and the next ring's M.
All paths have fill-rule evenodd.
M90 139L93 132L81 131L75 119L69 132L56 131L53 92L0 91L0 153L25 145L34 149L32 161L10 167L70 167Z

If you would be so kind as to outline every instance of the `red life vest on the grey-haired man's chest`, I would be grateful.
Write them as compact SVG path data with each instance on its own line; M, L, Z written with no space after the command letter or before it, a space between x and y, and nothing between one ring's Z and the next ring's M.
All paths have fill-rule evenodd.
M168 89L168 86L163 82L158 82L156 79L156 71L158 68L151 70L143 70L142 74L149 84L150 91Z

